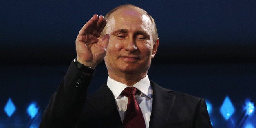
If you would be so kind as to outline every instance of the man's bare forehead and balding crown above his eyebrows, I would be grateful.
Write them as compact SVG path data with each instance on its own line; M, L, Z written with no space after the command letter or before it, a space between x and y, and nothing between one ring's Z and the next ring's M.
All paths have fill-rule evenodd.
M114 11L108 18L107 27L111 29L120 29L119 27L142 28L148 31L153 29L149 16L135 7L125 7Z

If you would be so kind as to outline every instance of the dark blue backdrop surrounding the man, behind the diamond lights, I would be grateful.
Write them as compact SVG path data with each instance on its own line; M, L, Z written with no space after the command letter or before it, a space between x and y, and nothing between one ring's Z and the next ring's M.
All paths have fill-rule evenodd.
M207 99L216 128L234 127L245 100L256 95L256 1L254 0L2 0L0 2L0 127L38 127L43 110L76 57L75 38L93 14L134 4L155 19L160 38L149 77L157 84ZM90 92L107 79L97 66ZM235 113L219 109L228 96ZM11 98L17 110L4 112ZM26 108L39 111L29 117ZM255 128L252 113L242 127ZM249 127L251 126L251 127Z

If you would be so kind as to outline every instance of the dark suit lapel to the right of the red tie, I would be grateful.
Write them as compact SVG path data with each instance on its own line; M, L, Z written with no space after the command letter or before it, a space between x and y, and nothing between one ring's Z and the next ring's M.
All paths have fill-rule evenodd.
M150 116L150 128L164 128L170 117L175 95L170 94L172 90L161 88L151 81L153 88L153 104Z

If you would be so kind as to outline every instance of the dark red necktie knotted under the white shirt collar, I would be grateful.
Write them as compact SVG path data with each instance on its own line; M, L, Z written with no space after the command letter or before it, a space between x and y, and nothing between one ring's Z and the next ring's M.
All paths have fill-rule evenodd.
M124 117L123 125L125 128L146 128L141 108L135 99L137 88L127 87L121 95L128 97L126 116Z

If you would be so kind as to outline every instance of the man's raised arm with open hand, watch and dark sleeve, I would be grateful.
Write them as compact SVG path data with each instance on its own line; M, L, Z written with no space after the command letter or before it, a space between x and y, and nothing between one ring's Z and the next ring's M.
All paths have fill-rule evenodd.
M41 128L75 127L92 79L90 74L93 74L92 70L106 55L110 35L100 37L106 23L103 16L93 15L79 31L75 41L77 61L71 63L57 92L51 97L42 117ZM86 71L89 72L86 73Z

